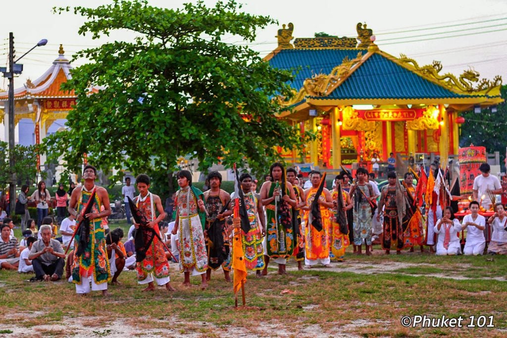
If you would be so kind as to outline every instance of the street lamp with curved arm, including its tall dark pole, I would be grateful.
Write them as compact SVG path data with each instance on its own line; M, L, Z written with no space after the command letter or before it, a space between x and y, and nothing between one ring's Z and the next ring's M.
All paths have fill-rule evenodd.
M9 204L11 215L14 213L16 206L16 171L14 170L14 74L21 74L23 72L23 65L16 64L26 54L31 52L35 47L45 46L48 40L42 39L33 46L29 51L21 55L16 61L14 61L14 35L12 32L9 33L9 73L6 69L0 69L4 72L4 77L9 78L9 167L11 168L11 182L9 183Z

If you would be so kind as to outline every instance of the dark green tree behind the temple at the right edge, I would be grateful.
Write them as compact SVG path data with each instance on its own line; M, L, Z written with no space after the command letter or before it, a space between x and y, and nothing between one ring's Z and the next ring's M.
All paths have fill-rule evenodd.
M502 98L507 97L507 85L501 87ZM491 112L491 108L483 109L480 114L470 110L461 114L465 123L461 125L459 146L468 147L470 144L486 147L488 153L500 152L500 163L505 159L505 147L507 147L507 105L505 102L496 106L497 112Z

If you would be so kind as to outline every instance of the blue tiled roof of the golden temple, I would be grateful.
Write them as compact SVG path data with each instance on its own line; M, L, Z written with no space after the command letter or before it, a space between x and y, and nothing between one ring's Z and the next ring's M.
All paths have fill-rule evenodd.
M269 63L271 66L292 70L296 79L291 86L299 90L303 81L313 74L329 74L342 63L345 56L353 59L359 49L285 49L276 54ZM363 50L363 55L366 50ZM298 67L301 67L297 73ZM312 73L313 71L313 73ZM352 75L328 96L322 99L378 99L378 98L458 98L479 95L458 94L430 82L405 67L373 54L361 64ZM482 95L480 95L482 96Z

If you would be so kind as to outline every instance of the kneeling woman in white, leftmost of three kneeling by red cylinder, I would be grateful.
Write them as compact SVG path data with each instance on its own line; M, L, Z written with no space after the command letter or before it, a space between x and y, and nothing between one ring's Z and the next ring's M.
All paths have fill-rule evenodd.
M444 216L434 227L435 233L439 236L436 254L459 255L461 253L461 245L458 233L461 231L461 224L454 218L454 210L451 207L447 207L443 214Z

